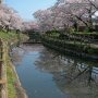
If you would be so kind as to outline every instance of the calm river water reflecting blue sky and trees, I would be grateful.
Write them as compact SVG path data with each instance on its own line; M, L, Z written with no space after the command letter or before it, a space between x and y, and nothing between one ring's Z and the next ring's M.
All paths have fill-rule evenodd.
M41 45L13 48L28 98L98 98L98 63L60 56Z

